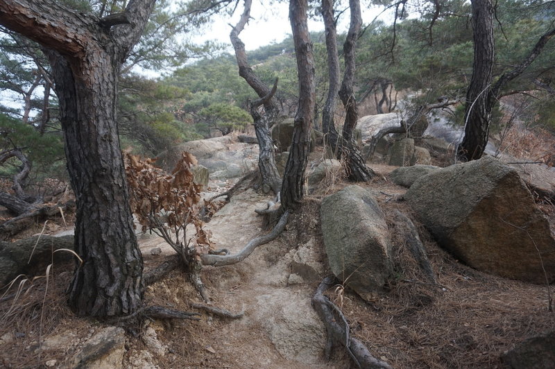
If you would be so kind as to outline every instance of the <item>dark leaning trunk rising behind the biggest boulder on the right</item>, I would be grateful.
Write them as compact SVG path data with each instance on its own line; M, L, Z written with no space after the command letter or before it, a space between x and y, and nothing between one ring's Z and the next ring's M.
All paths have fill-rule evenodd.
M490 0L472 0L474 64L466 93L465 135L458 150L459 157L465 161L479 159L488 144L491 110L495 103L490 95L495 60L493 15Z

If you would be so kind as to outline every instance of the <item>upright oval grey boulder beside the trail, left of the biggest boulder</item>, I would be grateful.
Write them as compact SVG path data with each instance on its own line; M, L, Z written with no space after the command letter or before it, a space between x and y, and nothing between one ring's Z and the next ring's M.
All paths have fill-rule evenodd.
M320 211L332 272L371 300L391 272L391 241L382 209L370 192L352 185L324 198Z

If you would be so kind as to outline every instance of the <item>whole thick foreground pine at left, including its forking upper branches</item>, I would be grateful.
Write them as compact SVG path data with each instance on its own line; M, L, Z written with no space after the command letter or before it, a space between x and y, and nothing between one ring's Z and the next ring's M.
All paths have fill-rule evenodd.
M132 314L142 304L142 257L133 231L116 121L117 76L155 0L131 0L110 19L57 1L0 2L0 24L42 45L53 69L76 194L75 249L84 264L69 288L80 316Z

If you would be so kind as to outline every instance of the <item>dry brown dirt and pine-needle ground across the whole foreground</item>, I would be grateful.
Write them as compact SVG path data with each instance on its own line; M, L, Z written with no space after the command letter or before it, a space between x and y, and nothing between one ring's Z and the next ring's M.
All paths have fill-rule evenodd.
M393 168L373 168L379 176L364 186L377 196L388 219L395 209L410 214L398 198L404 189L386 179ZM243 318L202 313L198 321L120 322L127 332L124 368L349 368L352 364L341 347L334 348L330 361L323 359L325 331L310 305L318 282L328 273L319 203L348 185L339 175L328 177L307 196L278 239L239 264L203 269L214 306L243 311ZM268 199L252 189L234 196L207 223L216 248L237 252L264 232L254 209L264 207ZM553 216L552 208L546 212ZM555 314L547 311L546 286L505 280L459 264L416 225L438 284L419 279L402 239L393 234L396 273L387 293L368 303L348 289L328 291L348 318L352 334L376 357L394 368L502 368L502 352L555 329ZM139 243L147 269L173 252L157 237L139 237ZM162 254L151 255L156 247ZM0 302L0 366L38 368L56 360L54 366L66 367L83 341L105 326L76 318L65 307L69 267L55 266L53 275L48 282L35 281L15 304ZM200 302L179 270L149 286L145 300L186 311L196 311L191 305ZM147 345L147 325L157 336L157 347ZM8 333L15 336L5 339ZM48 347L44 342L58 344Z

